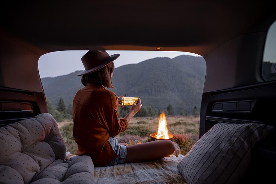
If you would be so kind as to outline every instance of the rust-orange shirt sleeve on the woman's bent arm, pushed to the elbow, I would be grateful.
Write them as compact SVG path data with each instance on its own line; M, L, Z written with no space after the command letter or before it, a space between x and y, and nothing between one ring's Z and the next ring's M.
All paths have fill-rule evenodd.
M109 92L111 96L111 109L107 115L107 125L109 132L112 136L117 136L119 133L124 132L128 128L128 121L126 119L118 118L118 104L116 95L113 92Z

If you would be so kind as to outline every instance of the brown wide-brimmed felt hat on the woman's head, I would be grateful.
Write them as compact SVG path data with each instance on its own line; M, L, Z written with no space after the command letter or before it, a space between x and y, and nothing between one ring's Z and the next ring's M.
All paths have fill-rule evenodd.
M82 56L82 64L85 70L80 72L77 76L97 71L117 59L119 56L120 54L113 54L109 56L106 51L88 51Z

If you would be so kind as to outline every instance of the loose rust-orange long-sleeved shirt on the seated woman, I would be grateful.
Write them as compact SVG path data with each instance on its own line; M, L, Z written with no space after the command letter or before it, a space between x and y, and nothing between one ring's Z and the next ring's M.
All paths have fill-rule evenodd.
M103 86L88 83L73 100L73 137L78 144L77 155L89 155L98 166L108 164L118 155L108 142L128 127L118 118L116 95Z

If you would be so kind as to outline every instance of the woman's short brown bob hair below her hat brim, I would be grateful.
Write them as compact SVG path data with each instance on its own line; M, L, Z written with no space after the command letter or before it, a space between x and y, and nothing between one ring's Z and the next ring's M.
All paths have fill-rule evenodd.
M99 86L105 86L107 88L114 88L111 79L111 74L113 70L114 63L111 62L97 71L94 71L90 74L82 75L81 82L83 86L86 86L87 83L92 83Z

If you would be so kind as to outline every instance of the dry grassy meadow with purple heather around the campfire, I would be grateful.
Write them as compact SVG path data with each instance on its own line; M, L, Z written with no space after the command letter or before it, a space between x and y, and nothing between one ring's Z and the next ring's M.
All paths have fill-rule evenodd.
M149 134L157 131L159 117L134 117L128 123L128 129L117 137L121 143L129 146L151 141ZM198 116L167 116L167 127L169 133L174 135L173 142L176 142L182 155L186 155L198 139L199 117ZM76 154L77 144L73 139L73 122L58 122L59 129L66 142L67 151Z

